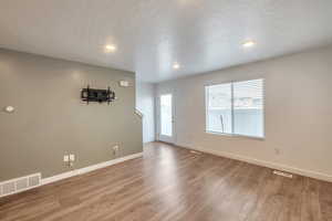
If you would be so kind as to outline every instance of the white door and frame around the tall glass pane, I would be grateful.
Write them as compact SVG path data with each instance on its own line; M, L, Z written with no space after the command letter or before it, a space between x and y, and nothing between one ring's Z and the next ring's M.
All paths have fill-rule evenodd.
M170 94L172 95L172 137L169 136L165 136L165 135L162 135L160 133L160 96L163 95L168 95ZM157 117L157 140L159 141L165 141L165 143L169 143L169 144L175 144L175 99L174 99L174 93L172 92L165 92L165 93L159 93L157 94L157 108L156 108L156 117Z

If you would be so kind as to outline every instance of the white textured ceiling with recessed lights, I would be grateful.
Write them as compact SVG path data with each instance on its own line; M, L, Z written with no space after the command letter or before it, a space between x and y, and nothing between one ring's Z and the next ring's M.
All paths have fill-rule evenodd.
M332 43L332 0L1 0L0 6L1 48L135 71L146 82ZM245 50L246 40L257 45ZM104 53L111 43L117 51Z

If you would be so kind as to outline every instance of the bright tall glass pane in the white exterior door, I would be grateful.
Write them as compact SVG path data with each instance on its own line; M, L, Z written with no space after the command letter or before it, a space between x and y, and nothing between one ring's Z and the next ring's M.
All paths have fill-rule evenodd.
M160 135L172 137L172 94L160 96Z

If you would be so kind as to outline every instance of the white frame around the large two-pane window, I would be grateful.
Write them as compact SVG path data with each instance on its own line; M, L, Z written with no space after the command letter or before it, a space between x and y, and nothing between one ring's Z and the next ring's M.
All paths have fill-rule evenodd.
M235 133L235 115L234 115L234 84L235 83L240 83L240 82L249 82L249 81L255 81L255 80L262 80L262 136L250 136L250 135L241 135L241 134L236 134ZM220 133L220 131L212 131L209 130L209 125L208 125L208 104L209 104L209 93L207 93L209 86L216 86L216 85L222 85L222 84L230 84L231 87L231 133ZM231 82L220 82L220 83L214 83L214 84L206 84L204 86L204 93L205 93L205 131L207 134L212 134L212 135L221 135L221 136L230 136L230 137L245 137L245 138L253 138L253 139L260 139L264 140L266 139L266 81L264 78L252 78L252 80L243 80L243 81L231 81Z

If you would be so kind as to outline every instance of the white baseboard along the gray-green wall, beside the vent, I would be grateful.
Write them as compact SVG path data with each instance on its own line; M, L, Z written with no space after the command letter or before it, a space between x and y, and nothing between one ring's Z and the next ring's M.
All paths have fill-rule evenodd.
M49 185L51 182L55 182L55 181L66 179L66 178L70 178L70 177L74 177L74 176L77 176L77 175L83 175L83 173L86 173L86 172L91 172L91 171L94 171L94 170L97 170L97 169L102 169L102 168L105 168L105 167L108 167L108 166L112 166L112 165L116 165L116 164L120 164L120 162L123 162L123 161L126 161L126 160L129 160L129 159L135 159L135 158L138 158L138 157L142 157L142 156L143 156L143 152L138 152L138 154L129 155L129 156L126 156L126 157L112 159L110 161L101 162L101 164L97 164L97 165L92 165L92 166L89 166L89 167L84 167L84 168L81 168L81 169L75 169L75 170L72 170L72 171L63 172L63 173L60 173L60 175L55 175L53 177L43 178L41 180L41 185Z

